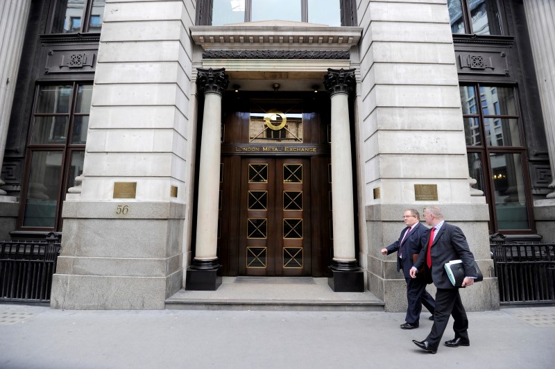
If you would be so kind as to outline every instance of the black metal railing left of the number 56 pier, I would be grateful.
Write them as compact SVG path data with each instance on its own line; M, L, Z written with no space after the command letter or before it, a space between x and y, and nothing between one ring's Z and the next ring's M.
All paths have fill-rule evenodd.
M48 302L60 255L60 236L0 241L0 301Z

